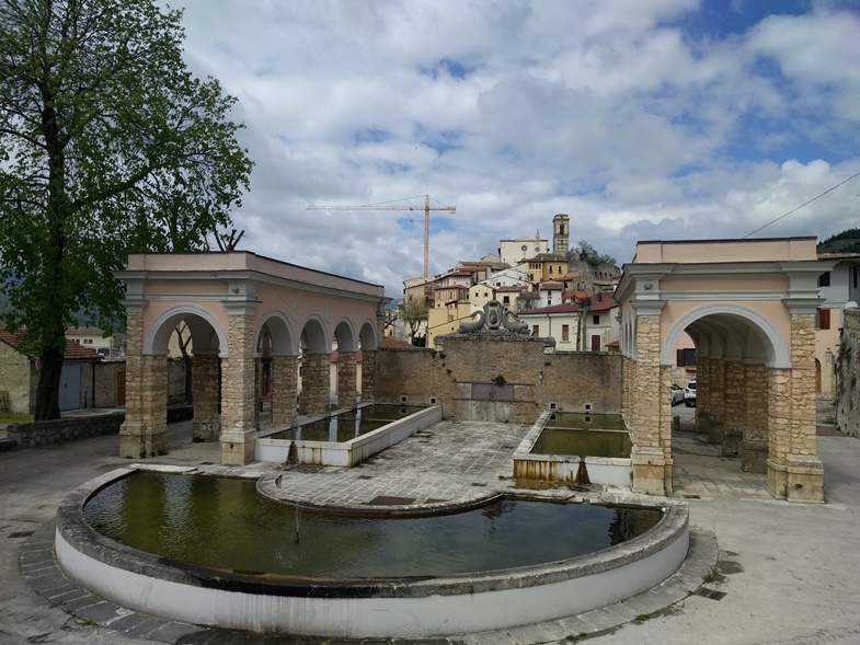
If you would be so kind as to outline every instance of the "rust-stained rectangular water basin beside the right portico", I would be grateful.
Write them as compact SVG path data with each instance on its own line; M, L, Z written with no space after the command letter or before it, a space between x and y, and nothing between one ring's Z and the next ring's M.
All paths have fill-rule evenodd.
M514 453L514 477L631 487L621 415L544 412Z

